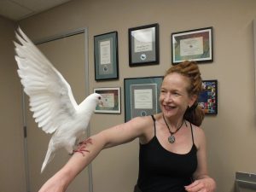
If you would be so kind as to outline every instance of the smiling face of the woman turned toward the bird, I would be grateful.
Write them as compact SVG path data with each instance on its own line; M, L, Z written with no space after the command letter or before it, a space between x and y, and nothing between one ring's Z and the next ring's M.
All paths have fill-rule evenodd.
M196 96L189 96L189 78L179 73L171 73L163 79L160 89L160 108L166 118L183 117L188 106L192 106Z

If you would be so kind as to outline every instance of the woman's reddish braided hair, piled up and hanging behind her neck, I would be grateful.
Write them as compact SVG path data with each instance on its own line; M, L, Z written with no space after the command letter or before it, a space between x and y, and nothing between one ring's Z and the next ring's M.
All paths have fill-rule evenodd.
M187 78L189 78L190 84L187 89L189 96L199 96L202 86L201 86L201 73L199 67L195 61L183 61L166 71L164 78L170 73L179 73ZM189 120L194 125L201 125L202 120L204 119L204 113L198 102L188 107L184 113L184 119Z

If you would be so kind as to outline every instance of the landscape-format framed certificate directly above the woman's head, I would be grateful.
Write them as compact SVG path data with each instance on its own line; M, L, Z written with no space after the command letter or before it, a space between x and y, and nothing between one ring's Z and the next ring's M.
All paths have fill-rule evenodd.
M172 64L213 61L212 27L172 33Z

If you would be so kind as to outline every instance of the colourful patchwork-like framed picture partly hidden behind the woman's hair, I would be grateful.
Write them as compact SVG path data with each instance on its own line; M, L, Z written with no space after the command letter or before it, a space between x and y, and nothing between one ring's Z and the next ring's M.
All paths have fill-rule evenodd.
M198 105L201 106L206 114L218 113L218 81L202 81L203 90L198 99Z

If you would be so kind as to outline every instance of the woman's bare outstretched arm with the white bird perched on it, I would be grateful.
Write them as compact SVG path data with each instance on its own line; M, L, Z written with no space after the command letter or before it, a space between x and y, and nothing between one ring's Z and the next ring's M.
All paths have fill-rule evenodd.
M84 148L80 148L81 153L74 153L67 164L44 183L39 192L65 191L79 172L89 165L103 148L110 148L130 142L136 137L142 137L144 127L148 126L148 122L151 122L150 117L149 120L148 117L131 119L125 124L114 126L90 137L88 142L85 141Z

